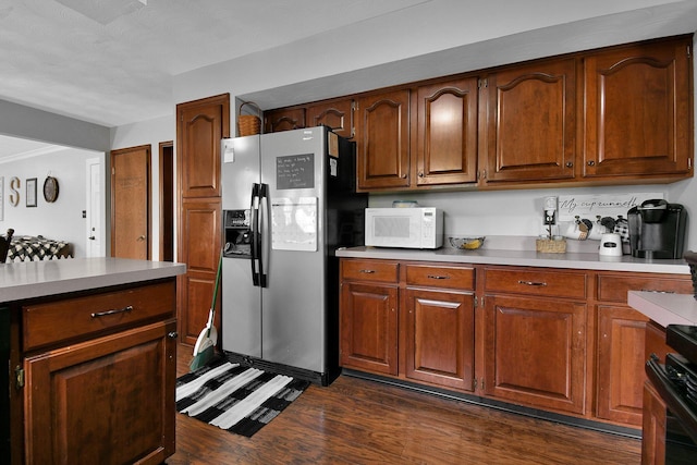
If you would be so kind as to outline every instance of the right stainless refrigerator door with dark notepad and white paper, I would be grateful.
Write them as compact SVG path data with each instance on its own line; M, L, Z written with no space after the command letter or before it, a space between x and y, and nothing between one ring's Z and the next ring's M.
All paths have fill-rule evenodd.
M326 134L323 127L273 133L261 145L262 357L318 372L326 367Z

